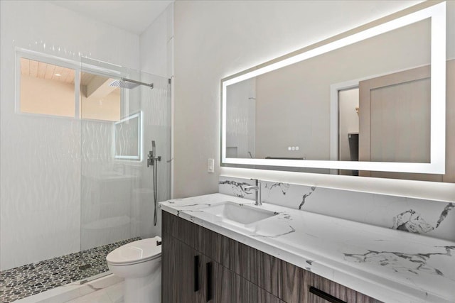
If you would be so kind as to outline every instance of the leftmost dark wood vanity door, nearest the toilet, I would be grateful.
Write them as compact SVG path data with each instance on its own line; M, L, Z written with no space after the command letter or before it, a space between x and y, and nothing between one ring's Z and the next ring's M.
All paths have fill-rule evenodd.
M162 295L164 303L203 301L203 255L163 233Z

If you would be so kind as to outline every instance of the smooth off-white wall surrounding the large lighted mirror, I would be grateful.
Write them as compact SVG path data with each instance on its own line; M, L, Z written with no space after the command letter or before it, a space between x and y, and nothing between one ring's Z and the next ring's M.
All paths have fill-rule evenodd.
M177 1L175 4L174 196L218 191L218 175L455 199L455 184L375 180L215 167L220 155L220 79L419 1ZM449 1L449 16L454 3ZM453 18L448 28L455 28ZM454 50L454 33L449 49ZM452 54L453 55L453 54Z

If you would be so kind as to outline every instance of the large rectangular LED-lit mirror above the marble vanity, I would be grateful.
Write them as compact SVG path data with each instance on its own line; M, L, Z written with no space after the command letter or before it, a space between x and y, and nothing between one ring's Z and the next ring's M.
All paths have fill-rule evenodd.
M446 4L252 67L221 90L222 165L444 174Z

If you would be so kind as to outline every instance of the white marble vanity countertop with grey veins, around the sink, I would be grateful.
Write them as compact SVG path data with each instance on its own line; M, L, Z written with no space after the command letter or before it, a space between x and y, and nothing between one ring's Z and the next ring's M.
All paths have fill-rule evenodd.
M227 201L277 215L241 226L204 211ZM226 194L160 207L383 302L455 302L455 242Z

